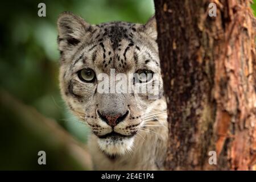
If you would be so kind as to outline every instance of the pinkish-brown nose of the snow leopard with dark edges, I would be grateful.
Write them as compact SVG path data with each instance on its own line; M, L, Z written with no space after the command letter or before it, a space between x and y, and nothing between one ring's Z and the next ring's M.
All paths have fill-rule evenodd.
M127 110L125 114L108 114L108 113L101 113L99 110L97 110L98 116L102 119L102 121L105 121L109 126L116 126L119 122L125 120L127 115L129 114L129 111Z

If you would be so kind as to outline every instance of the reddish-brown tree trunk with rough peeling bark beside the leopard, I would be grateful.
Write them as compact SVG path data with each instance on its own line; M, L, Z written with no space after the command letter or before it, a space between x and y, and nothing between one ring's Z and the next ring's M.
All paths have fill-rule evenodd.
M217 5L217 16L208 5ZM255 169L255 19L248 0L155 0L167 169ZM210 165L216 151L217 165Z

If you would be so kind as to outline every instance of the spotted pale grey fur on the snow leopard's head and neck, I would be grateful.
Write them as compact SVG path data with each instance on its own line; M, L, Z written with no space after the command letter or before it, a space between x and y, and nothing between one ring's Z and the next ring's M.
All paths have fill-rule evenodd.
M91 25L65 12L59 16L57 26L61 94L73 114L92 130L88 145L95 168L164 169L168 129L162 78L159 97L148 100L148 94L143 93L100 94L97 81L86 83L77 76L84 68L93 69L96 75L109 75L110 69L125 74L149 69L160 74L155 18L146 24ZM98 110L123 114L127 111L127 117L112 128ZM127 137L108 137L112 131Z

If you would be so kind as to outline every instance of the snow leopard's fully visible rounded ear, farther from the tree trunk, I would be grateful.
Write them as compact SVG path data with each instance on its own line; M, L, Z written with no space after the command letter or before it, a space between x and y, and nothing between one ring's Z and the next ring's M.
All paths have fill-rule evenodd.
M70 12L61 13L57 20L58 28L58 43L65 41L68 46L76 46L80 43L81 38L86 35L86 32L92 29L89 23L84 19Z

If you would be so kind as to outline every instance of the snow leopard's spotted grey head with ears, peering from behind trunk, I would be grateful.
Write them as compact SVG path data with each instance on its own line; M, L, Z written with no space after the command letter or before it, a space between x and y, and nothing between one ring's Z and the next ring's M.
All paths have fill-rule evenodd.
M155 18L146 24L110 22L90 25L72 13L57 21L60 51L61 94L73 114L88 123L97 143L107 155L129 151L134 137L144 126L144 115L154 109L163 96L163 81L158 77L158 94L100 92L102 75L122 74L131 90L137 84L154 84L160 75ZM148 76L151 75L151 76ZM111 80L111 79L110 79ZM153 81L152 81L153 80ZM107 81L108 83L111 81ZM112 81L117 84L118 80ZM111 90L105 86L106 90Z

